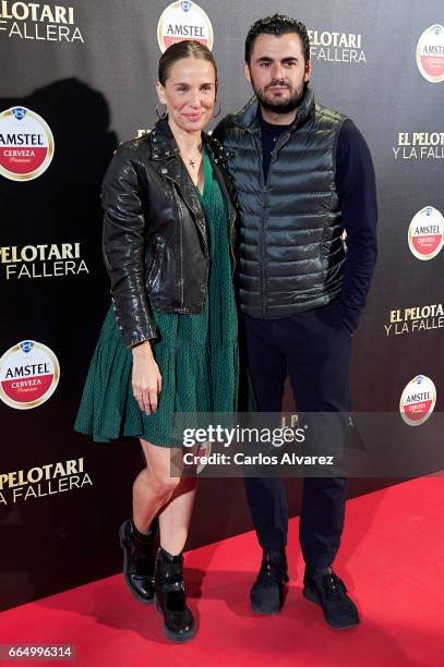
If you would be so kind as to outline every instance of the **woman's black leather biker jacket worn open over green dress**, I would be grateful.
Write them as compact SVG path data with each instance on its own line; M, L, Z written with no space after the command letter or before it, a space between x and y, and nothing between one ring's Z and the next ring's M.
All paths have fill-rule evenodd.
M227 203L233 269L235 190L227 155L205 133L203 142ZM156 338L152 307L201 313L209 267L205 217L166 120L119 147L105 175L103 207L104 257L125 344Z

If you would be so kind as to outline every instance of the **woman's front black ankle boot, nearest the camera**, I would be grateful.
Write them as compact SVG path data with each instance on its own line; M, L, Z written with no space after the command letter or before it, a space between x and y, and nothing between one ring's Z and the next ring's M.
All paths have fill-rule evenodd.
M195 634L195 621L187 607L183 556L157 551L155 574L156 609L164 616L164 632L173 642L187 642Z

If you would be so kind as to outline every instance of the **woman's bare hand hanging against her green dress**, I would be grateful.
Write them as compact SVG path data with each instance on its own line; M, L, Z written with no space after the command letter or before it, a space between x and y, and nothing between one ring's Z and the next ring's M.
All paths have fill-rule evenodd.
M140 409L145 414L157 411L158 396L161 391L161 375L153 356L148 340L132 348L133 373L132 388Z

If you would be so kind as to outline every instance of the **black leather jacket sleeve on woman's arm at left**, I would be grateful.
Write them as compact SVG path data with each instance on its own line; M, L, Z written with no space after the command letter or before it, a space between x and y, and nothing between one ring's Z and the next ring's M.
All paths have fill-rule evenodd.
M104 258L116 319L129 348L156 338L144 282L145 219L141 197L134 147L129 142L113 156L101 190Z

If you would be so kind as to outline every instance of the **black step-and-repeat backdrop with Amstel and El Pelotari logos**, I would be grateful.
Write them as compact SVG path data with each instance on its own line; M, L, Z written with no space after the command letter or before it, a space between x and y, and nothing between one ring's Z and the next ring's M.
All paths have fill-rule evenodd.
M317 100L349 116L373 155L380 255L355 336L353 408L396 414L360 438L401 458L404 446L442 440L444 7L301 0L273 11L307 24ZM244 37L269 13L265 0L0 1L0 608L120 568L139 445L72 429L110 300L101 179L118 144L156 121L167 46L192 37L213 49L224 114L251 95ZM389 482L352 480L350 495ZM288 489L297 513L300 481ZM190 546L250 527L242 481L202 480Z

